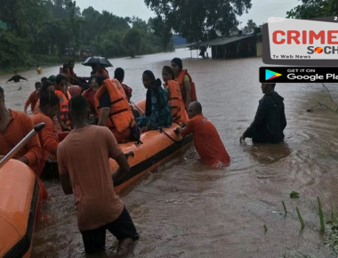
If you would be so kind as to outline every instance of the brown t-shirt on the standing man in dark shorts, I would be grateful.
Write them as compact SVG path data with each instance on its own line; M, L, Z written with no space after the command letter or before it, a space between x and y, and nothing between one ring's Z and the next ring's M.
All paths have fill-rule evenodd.
M58 147L60 173L68 173L77 206L78 227L92 230L122 213L123 202L114 191L109 157L122 153L105 126L74 129Z

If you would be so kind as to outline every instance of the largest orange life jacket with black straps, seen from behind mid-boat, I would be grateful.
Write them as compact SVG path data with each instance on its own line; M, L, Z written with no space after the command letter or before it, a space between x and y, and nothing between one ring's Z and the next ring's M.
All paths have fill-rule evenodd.
M126 129L135 126L136 121L125 96L125 90L117 79L104 80L95 94L94 101L98 117L100 117L100 98L106 91L109 93L111 103L107 127L116 128L118 133L123 133Z

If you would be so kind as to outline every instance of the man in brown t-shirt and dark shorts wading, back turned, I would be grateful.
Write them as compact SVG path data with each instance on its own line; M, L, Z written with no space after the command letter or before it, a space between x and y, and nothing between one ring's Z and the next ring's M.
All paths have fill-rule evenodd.
M115 193L109 157L119 165L117 179L129 172L128 162L109 128L88 125L88 102L83 96L73 97L69 106L74 130L60 142L57 157L62 189L74 193L85 253L104 251L109 230L119 240L117 254L126 254L139 235Z

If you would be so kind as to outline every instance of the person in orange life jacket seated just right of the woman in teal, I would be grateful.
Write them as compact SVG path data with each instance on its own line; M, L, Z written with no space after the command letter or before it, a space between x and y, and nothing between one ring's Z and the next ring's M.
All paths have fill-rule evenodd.
M174 80L173 69L165 66L162 69L162 78L165 82L164 88L172 110L173 122L187 122L189 117L184 107L180 85Z

